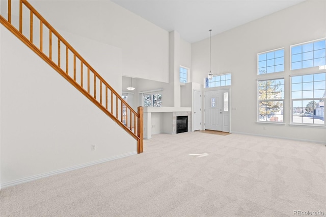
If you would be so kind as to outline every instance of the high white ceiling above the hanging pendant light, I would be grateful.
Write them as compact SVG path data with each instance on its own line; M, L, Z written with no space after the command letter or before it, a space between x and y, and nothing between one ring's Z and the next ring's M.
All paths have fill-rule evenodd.
M305 0L112 0L193 43Z

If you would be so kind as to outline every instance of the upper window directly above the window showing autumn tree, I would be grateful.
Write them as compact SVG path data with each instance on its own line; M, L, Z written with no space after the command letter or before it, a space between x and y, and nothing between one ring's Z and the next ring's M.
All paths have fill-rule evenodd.
M258 74L284 71L284 49L258 53Z

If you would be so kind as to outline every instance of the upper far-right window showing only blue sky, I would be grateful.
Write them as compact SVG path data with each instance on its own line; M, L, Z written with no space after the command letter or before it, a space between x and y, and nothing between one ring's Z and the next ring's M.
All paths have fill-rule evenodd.
M291 69L326 65L326 41L291 46Z

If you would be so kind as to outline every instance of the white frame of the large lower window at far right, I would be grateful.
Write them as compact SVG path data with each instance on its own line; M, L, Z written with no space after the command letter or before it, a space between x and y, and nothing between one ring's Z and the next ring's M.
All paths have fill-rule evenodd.
M315 73L302 73L302 74L292 74L290 75L290 104L291 104L291 109L290 109L290 114L291 114L291 125L302 125L302 126L326 126L326 122L324 120L324 123L323 124L319 124L319 123L298 123L298 122L293 122L293 101L315 101L315 100L323 100L324 103L326 102L326 95L324 95L324 97L312 97L312 98L292 98L292 78L295 77L295 76L304 76L304 75L314 75L314 74L322 74L322 73L325 73L325 71L321 71L321 72L315 72ZM304 82L302 81L301 84L303 84ZM325 81L326 83L326 81ZM300 83L295 83L295 84L300 84ZM326 85L326 84L325 84ZM314 91L315 89L313 89L312 91ZM326 91L325 91L326 92ZM302 107L303 108L303 107ZM325 112L325 107L324 107L324 112ZM302 117L303 117L303 114L302 114ZM324 116L325 118L325 116Z

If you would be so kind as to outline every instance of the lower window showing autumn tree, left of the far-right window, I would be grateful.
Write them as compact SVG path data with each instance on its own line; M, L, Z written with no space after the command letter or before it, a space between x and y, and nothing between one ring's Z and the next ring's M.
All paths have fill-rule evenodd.
M283 122L284 78L258 81L259 122Z

